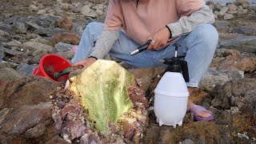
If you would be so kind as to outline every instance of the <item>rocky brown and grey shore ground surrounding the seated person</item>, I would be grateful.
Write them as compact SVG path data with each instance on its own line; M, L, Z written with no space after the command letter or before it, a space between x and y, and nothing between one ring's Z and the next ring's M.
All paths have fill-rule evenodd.
M188 113L183 126L159 127L152 91L163 69L130 70L146 87L150 101L150 122L143 143L256 143L256 6L244 0L227 6L207 5L215 14L219 45L200 87L190 98L212 110L214 121L195 122ZM45 54L70 60L86 24L103 22L106 8L103 0L0 2L1 143L69 142L55 129L52 119L50 95L62 83L30 75ZM76 130L74 135L79 135ZM72 142L78 143L78 139Z

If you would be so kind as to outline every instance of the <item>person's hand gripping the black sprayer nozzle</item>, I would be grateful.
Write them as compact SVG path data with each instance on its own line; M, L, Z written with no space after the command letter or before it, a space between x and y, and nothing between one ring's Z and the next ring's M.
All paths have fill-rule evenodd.
M152 42L147 50L160 50L162 46L165 46L170 38L170 31L167 27L158 30L150 39Z

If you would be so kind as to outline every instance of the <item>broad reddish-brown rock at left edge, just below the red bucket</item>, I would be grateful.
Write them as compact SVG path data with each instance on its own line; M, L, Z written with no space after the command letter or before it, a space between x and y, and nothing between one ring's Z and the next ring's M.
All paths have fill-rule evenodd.
M58 83L47 78L28 77L14 82L0 83L0 99L3 108L18 108L23 105L36 105L40 102L50 102L49 94Z

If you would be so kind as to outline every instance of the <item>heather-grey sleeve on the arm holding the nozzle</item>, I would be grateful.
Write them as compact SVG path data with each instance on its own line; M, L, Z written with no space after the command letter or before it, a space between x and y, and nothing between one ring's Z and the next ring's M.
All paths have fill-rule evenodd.
M192 3L189 6L193 6ZM178 22L167 25L171 31L172 38L188 34L198 25L214 23L214 14L205 4L199 7L198 10L190 10L189 8L178 9L178 14L181 16Z

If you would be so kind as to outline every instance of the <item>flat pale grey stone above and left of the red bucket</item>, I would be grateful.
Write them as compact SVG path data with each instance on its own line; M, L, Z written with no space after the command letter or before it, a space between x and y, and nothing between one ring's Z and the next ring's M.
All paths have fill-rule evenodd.
M53 50L52 46L45 45L39 42L25 42L22 43L22 48L24 50L47 50L48 52Z

